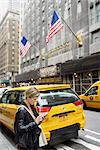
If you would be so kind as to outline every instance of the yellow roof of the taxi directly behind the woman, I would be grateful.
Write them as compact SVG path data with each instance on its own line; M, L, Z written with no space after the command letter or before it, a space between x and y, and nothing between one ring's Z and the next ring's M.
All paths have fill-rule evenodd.
M30 87L36 87L39 91L45 91L45 90L47 91L52 89L70 88L70 85L69 84L45 84L45 85L22 86L22 87L10 88L7 91L25 91Z

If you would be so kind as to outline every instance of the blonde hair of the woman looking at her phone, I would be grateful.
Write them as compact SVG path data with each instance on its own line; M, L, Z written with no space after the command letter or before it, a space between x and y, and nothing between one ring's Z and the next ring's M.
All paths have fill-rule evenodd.
M40 95L40 92L35 88L35 87L31 87L28 90L25 91L25 97L38 97Z

